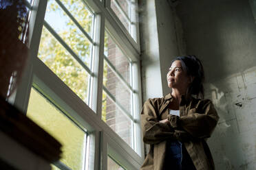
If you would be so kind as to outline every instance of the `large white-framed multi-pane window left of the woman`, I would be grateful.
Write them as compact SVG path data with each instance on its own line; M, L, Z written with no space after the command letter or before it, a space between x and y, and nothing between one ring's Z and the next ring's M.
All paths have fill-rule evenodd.
M109 0L27 3L31 57L14 104L63 144L53 169L138 169L144 159L137 2L116 2L128 34ZM102 149L108 143L115 154Z

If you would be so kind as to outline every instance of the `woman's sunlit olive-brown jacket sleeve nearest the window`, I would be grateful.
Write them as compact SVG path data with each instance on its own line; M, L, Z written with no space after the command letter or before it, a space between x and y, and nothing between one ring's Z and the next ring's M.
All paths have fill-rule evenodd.
M157 119L158 106L156 101L148 99L140 114L143 141L148 144L156 144L167 139L174 138L174 130L168 123L160 123Z

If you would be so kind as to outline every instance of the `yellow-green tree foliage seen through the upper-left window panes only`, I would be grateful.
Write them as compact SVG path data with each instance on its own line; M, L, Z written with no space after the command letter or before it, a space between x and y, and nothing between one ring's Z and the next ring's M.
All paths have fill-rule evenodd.
M76 18L78 23L87 32L91 32L93 16L84 8L82 1L61 1L70 13ZM58 35L66 42L67 45L81 58L83 62L89 67L91 43L86 36L76 27L73 21L67 17L60 6L49 0L47 5L47 12L55 12L66 17L65 27L61 30L55 30ZM55 14L54 13L54 14ZM54 27L54 25L51 25ZM56 27L56 26L55 26ZM50 32L43 27L41 36L41 43L39 47L39 58L52 70L58 77L69 86L76 95L81 97L83 101L87 102L87 88L89 82L89 74L85 71L83 66L79 64L70 53L59 43Z

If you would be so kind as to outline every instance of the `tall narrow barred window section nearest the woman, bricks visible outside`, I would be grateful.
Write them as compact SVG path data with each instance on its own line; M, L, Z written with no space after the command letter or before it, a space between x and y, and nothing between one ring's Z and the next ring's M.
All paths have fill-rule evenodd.
M102 118L131 147L134 144L132 79L131 61L105 32Z

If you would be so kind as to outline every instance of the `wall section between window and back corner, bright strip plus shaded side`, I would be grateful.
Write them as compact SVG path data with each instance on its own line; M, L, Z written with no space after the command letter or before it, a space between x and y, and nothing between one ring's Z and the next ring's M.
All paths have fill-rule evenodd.
M142 98L170 93L166 75L175 56L184 52L182 29L167 0L140 1L140 45L142 51ZM177 31L178 29L178 31Z

